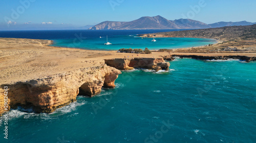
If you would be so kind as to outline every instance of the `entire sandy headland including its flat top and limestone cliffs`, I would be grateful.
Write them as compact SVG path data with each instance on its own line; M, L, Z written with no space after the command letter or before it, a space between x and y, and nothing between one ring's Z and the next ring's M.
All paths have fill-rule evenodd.
M0 91L5 86L12 89L8 93L9 109L32 104L36 112L47 113L76 101L79 91L91 97L100 93L102 87L114 88L115 79L121 74L119 70L168 69L169 63L164 62L168 60L166 56L255 57L255 53L245 52L189 53L190 56L187 52L119 53L53 47L51 40L35 39L0 38L0 42ZM4 109L2 99L0 112Z

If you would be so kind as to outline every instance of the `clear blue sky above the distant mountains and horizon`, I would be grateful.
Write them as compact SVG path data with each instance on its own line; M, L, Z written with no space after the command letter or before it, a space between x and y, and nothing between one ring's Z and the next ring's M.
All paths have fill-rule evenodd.
M189 18L207 24L256 22L255 0L1 0L0 24L95 25L142 16Z

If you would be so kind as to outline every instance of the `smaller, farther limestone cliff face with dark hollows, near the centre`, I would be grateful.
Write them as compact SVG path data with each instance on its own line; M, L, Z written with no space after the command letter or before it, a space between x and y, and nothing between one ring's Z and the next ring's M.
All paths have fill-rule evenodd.
M153 69L159 71L161 69L168 70L170 64L162 58L134 58L134 59L107 59L105 64L119 70L131 70L133 68Z

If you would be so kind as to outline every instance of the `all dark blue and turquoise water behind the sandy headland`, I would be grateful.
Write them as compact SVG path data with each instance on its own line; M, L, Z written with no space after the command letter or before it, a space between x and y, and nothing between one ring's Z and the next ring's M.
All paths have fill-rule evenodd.
M118 50L120 48L184 48L216 43L216 40L202 38L141 38L137 34L168 32L177 30L65 30L65 31L0 31L0 37L53 40L52 46L94 50ZM112 45L104 45L108 41ZM101 37L101 38L100 38Z

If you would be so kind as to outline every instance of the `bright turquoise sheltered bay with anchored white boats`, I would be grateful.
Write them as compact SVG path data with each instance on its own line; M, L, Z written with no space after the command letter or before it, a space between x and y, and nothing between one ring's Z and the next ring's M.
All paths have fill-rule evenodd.
M136 35L129 36L108 36L108 41L111 45L104 45L106 43L106 36L99 38L84 38L79 40L73 39L55 39L53 46L73 47L93 50L118 50L121 48L141 48L147 47L151 50L158 49L173 49L184 48L192 46L203 46L208 44L215 44L216 40L203 38L155 38L156 42L152 42L153 38L141 38Z

